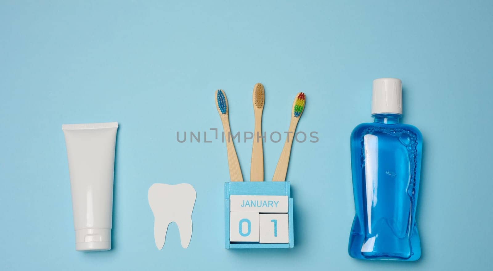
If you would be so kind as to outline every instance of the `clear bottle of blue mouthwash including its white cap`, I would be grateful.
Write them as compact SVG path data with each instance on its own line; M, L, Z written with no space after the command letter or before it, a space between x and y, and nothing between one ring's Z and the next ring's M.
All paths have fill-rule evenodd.
M356 215L349 255L357 259L416 261L416 226L423 138L402 116L401 80L373 81L373 123L351 134L352 187Z

